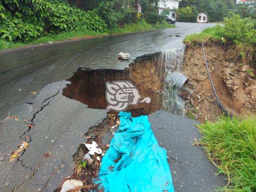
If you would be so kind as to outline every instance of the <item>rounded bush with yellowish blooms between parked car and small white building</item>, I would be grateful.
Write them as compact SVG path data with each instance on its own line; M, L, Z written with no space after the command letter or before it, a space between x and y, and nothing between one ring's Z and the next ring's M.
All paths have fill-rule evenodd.
M194 6L175 8L177 21L180 22L197 22L198 10Z

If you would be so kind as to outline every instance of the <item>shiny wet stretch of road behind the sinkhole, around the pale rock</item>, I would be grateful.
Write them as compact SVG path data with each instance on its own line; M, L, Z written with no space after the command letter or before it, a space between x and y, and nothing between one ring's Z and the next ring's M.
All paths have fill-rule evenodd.
M67 79L77 67L123 69L137 56L181 48L188 33L213 23L177 23L176 28L105 36L90 40L60 42L0 51L0 119L17 115L31 93L45 85ZM169 35L172 35L169 37ZM175 37L181 34L182 37ZM117 59L128 52L129 61ZM20 90L20 91L19 91Z

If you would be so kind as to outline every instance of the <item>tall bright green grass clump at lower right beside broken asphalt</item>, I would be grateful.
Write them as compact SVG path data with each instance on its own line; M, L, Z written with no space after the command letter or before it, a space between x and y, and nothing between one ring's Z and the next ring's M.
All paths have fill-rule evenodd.
M209 159L224 173L223 191L256 191L256 117L221 117L198 125L200 143Z

